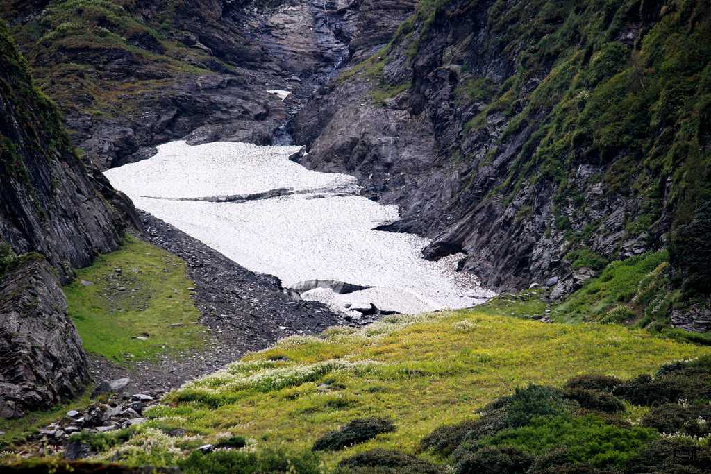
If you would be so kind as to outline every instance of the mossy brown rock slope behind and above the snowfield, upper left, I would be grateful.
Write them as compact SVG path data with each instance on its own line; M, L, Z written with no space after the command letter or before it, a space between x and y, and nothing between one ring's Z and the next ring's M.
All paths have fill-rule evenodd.
M0 11L74 144L105 170L171 139L271 144L345 53L358 2L6 0Z

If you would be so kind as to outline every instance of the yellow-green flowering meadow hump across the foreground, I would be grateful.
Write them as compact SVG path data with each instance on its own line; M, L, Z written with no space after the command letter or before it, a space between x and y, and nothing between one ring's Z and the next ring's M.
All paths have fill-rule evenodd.
M149 411L141 438L105 456L175 463L181 453L230 433L252 438L260 449L304 451L326 431L365 416L391 418L397 429L324 453L326 467L375 447L415 453L437 426L469 419L515 387L560 386L589 372L633 377L702 354L711 348L619 325L544 324L476 310L389 316L360 330L287 338L189 382ZM175 428L188 436L161 434ZM146 438L155 439L154 452L139 456Z

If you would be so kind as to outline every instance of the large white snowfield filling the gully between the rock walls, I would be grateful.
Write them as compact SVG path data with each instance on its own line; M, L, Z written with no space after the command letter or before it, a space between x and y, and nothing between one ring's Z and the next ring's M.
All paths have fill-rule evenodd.
M173 141L153 158L106 176L137 208L247 269L279 277L301 298L353 316L360 314L354 308L370 303L419 313L465 308L491 296L476 279L455 271L461 256L429 262L421 257L429 240L374 230L398 219L397 206L358 195L353 176L289 161L296 151L298 146Z

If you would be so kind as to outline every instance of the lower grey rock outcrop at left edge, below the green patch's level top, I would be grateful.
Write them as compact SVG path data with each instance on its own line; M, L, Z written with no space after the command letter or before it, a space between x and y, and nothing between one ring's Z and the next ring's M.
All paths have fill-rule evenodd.
M0 416L53 406L87 382L59 280L43 258L26 257L0 281Z

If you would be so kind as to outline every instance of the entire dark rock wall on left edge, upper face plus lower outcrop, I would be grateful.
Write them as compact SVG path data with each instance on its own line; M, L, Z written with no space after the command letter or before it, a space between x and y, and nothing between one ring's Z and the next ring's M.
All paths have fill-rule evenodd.
M1 416L85 387L87 359L60 282L117 248L132 222L133 205L77 157L0 23Z

